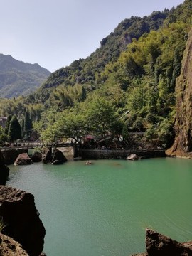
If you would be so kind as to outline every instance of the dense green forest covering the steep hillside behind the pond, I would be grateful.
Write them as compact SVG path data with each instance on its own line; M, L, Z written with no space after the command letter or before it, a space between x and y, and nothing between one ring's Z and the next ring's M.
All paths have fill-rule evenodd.
M1 99L0 116L16 114L21 128L30 123L23 136L33 129L44 142L68 137L80 142L94 134L168 148L191 18L192 2L186 0L171 10L125 19L94 53L50 74L36 92ZM144 135L132 142L131 132Z

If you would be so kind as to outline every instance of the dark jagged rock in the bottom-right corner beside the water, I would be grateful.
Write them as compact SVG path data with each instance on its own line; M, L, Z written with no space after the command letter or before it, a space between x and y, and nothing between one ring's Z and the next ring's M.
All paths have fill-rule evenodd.
M161 235L154 230L146 228L146 253L137 256L191 256L191 242L177 242ZM132 255L136 256L136 255Z

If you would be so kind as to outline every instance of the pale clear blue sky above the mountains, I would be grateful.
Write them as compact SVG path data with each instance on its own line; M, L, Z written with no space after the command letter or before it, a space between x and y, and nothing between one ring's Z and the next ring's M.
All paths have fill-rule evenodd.
M183 0L1 0L0 53L50 72L87 58L125 18Z

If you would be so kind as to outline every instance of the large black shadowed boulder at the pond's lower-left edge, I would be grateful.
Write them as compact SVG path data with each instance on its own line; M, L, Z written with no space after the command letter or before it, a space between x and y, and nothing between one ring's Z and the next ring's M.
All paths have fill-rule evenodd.
M5 235L19 242L28 255L41 255L46 230L31 193L0 186L0 218L6 224Z

